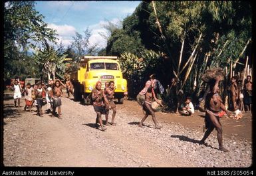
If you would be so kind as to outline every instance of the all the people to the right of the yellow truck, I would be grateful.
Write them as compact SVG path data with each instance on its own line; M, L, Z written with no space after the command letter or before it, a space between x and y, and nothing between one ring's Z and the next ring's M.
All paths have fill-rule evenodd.
M231 116L231 113L229 110L227 110L223 104L223 101L221 99L221 96L219 95L219 82L221 81L221 76L216 76L215 79L212 79L210 82L208 82L209 91L205 93L205 128L207 129L206 132L203 135L203 138L199 141L199 144L204 144L205 139L209 137L211 132L213 132L214 129L217 130L217 141L219 143L219 150L227 152L228 150L223 147L223 139L222 139L222 126L219 121L219 118L223 116L223 114L227 114L227 116ZM162 102L156 98L155 93L155 85L156 82L159 82L154 78L154 74L150 76L150 80L146 82L146 85L144 89L138 94L137 101L142 106L145 116L142 118L140 124L138 124L139 127L143 126L144 120L151 115L154 121L154 124L157 129L162 128L162 126L158 125L158 122L156 120L156 116L154 113L154 110L152 108L152 102L155 100L160 106L162 105ZM232 84L231 84L231 92L232 94L234 92L237 92L237 86L235 85L235 80L232 78ZM182 99L184 97L183 90L178 91L178 107L177 110L180 112L180 114L184 116L191 116L194 113L194 107L192 104L192 98L186 97L185 100L185 106L181 106ZM251 110L251 98L252 98L252 82L251 82L251 76L247 76L247 82L245 82L245 104L249 105L249 109ZM153 100L154 99L154 100ZM232 100L237 100L237 98L233 98ZM237 107L235 103L233 103L233 107ZM179 110L180 108L180 110Z

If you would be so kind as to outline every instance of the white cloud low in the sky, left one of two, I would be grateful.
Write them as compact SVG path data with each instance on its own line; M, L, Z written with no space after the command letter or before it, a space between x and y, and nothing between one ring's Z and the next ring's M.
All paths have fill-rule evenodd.
M68 46L72 43L72 37L75 36L76 29L70 25L55 25L53 23L48 25L49 28L57 30L59 39L57 43L63 43L64 46Z

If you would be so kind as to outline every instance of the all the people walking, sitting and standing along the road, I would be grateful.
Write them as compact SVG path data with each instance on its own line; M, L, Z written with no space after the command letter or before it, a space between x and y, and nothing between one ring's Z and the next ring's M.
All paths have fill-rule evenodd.
M214 130L217 130L217 141L219 143L219 150L228 151L223 147L223 139L222 139L222 126L219 121L219 118L223 116L223 112L228 116L231 114L229 110L227 110L221 100L221 96L219 95L219 82L221 81L221 76L216 76L215 79L207 82L209 86L209 91L205 93L205 128L207 129L200 144L205 142L205 139L210 135L210 133ZM42 106L43 99L45 98L47 102L47 113L52 111L52 116L56 115L56 108L58 108L58 118L61 118L61 96L63 95L62 88L67 88L67 92L73 93L72 84L69 80L66 81L66 85L63 84L60 80L49 80L49 85L46 87L41 82L31 86L31 84L27 84L25 89L21 88L19 84L19 80L15 80L15 84L13 85L14 90L14 102L15 107L20 107L20 98L21 94L25 92L25 108L29 108L31 111L31 107L35 102L37 106L37 114L42 116ZM115 116L116 116L116 104L114 103L114 82L106 82L104 85L104 89L102 89L102 82L100 80L96 82L95 88L92 90L91 99L94 111L96 112L96 122L95 127L98 128L98 124L100 124L101 130L106 131L106 126L116 126ZM237 78L233 77L231 79L231 100L233 104L233 110L235 110L237 106L237 100L239 96L241 96L241 89L239 90L239 86L237 86ZM247 76L247 81L245 82L244 89L245 96L245 104L248 105L247 109L251 110L251 98L252 98L252 82L251 76ZM164 88L162 84L160 84L159 80L155 78L155 74L150 76L150 80L148 80L144 86L144 88L140 91L137 96L138 103L142 106L142 110L144 112L144 117L138 124L140 128L144 126L144 121L148 116L152 116L152 120L155 124L156 129L161 129L162 126L156 120L156 115L154 108L152 107L153 102L156 102L160 106L164 106L162 101L159 100L157 93L163 94ZM240 94L240 95L239 95ZM178 91L178 103L182 104L182 97L184 96L183 90ZM110 110L112 110L112 120L111 123L108 123L108 115ZM194 113L194 108L192 104L192 98L186 97L185 106L181 106L179 110L180 114L184 116L191 116ZM103 123L102 114L105 115L106 121Z

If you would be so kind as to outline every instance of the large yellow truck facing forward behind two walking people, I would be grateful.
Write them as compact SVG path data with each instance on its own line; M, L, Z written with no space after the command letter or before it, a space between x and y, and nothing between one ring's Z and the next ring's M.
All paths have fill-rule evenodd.
M91 92L98 80L102 82L102 89L105 82L114 81L114 97L120 104L127 94L127 81L122 77L116 56L84 56L80 60L80 68L70 74L70 79L74 85L74 101L84 104L91 104Z

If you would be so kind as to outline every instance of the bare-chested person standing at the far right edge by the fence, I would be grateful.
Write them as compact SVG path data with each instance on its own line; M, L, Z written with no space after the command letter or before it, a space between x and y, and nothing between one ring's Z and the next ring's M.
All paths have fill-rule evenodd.
M251 111L252 97L253 97L253 82L251 82L251 76L246 76L245 82L245 107L247 111Z

